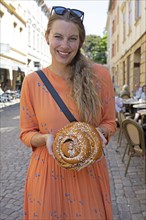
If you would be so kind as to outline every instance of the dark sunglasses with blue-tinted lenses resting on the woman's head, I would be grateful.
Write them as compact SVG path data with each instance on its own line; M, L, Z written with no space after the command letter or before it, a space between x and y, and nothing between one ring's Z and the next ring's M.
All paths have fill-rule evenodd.
M62 6L53 6L50 16L53 14L53 11L57 15L64 15L67 11L69 11L72 16L80 18L81 21L83 21L84 19L84 12L78 9L70 9L70 8L65 8Z

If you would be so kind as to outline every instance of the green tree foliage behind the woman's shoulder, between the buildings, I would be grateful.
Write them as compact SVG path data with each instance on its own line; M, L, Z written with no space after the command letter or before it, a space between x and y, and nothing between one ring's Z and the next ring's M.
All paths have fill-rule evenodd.
M83 53L96 63L106 64L107 35L103 37L87 35L83 45Z

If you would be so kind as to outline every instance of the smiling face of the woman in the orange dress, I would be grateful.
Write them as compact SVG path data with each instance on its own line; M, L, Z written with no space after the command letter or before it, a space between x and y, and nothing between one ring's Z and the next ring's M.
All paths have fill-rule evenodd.
M49 41L52 64L66 66L71 63L79 49L78 27L73 22L56 20L50 33L46 35L46 40Z

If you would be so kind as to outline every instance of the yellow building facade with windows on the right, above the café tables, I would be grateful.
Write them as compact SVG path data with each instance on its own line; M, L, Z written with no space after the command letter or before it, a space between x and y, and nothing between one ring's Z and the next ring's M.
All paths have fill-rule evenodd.
M146 1L110 0L108 66L115 87L146 84Z

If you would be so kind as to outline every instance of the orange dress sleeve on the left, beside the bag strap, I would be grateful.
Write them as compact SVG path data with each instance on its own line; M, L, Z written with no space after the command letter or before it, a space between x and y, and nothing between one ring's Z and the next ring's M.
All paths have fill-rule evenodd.
M20 98L20 139L28 147L32 147L32 136L39 132L30 92L30 81L29 75L24 78Z

